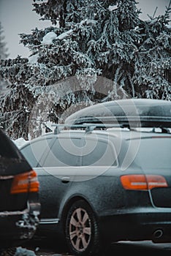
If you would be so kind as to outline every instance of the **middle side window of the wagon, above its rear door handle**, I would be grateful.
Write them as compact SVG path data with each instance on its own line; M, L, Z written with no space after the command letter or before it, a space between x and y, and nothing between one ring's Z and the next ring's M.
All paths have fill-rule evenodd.
M57 138L47 154L43 166L79 166L80 146L80 138Z

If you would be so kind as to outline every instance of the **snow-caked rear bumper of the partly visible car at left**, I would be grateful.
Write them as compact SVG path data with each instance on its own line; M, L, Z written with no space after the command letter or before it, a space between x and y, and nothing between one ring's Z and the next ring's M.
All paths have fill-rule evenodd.
M29 203L23 211L0 212L0 248L20 246L32 238L39 225L39 214L39 203Z

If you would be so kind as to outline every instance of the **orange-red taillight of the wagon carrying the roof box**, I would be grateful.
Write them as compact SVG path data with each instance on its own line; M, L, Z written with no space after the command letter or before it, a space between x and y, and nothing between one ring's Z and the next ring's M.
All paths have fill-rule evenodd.
M121 184L124 189L148 190L154 187L168 187L167 181L159 175L131 174L121 176Z

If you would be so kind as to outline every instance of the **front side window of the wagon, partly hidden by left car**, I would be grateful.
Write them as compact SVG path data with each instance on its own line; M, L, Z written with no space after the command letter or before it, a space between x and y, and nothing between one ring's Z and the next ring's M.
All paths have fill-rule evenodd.
M28 145L20 150L32 167L41 166L39 163L40 159L46 150L49 151L51 140L52 138L37 140L33 143L28 143Z

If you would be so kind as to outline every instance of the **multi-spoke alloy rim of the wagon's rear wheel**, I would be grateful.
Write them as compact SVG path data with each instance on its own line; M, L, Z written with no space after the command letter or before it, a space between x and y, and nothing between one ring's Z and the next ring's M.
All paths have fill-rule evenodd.
M91 241L91 219L83 208L77 208L69 222L69 238L77 251L85 251Z

